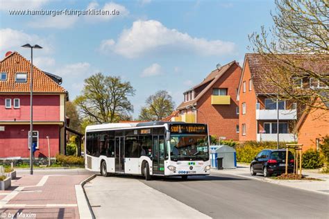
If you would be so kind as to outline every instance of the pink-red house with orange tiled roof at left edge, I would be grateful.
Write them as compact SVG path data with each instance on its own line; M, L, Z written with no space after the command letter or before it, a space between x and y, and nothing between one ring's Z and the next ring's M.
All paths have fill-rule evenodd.
M29 157L31 62L17 52L0 62L0 157ZM65 153L65 101L61 78L33 67L35 158Z

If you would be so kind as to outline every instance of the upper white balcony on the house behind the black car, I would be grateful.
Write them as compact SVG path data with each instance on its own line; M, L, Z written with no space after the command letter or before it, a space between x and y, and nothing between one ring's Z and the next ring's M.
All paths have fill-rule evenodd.
M276 109L260 109L259 103L256 104L257 120L276 120L278 119L278 111ZM297 119L296 109L279 109L279 120Z

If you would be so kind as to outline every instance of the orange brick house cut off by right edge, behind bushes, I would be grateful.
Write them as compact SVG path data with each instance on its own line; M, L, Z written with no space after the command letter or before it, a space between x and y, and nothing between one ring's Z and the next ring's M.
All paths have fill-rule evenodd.
M329 91L321 95L328 100ZM303 144L303 151L310 148L319 150L321 138L329 136L329 103L322 101L323 96L315 98L313 102L313 105L321 105L321 108L306 109L297 123L298 143Z

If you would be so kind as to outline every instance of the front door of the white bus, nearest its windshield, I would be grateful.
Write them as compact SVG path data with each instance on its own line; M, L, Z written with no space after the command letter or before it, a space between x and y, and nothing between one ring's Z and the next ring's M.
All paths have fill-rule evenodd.
M153 173L165 172L165 138L163 135L153 135L152 148Z

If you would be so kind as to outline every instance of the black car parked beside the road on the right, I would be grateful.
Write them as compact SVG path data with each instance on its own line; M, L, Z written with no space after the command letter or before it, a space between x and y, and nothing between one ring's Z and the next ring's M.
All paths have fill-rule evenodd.
M250 173L256 175L262 173L264 177L285 173L286 150L262 150L251 161ZM294 172L294 155L288 152L288 173Z

